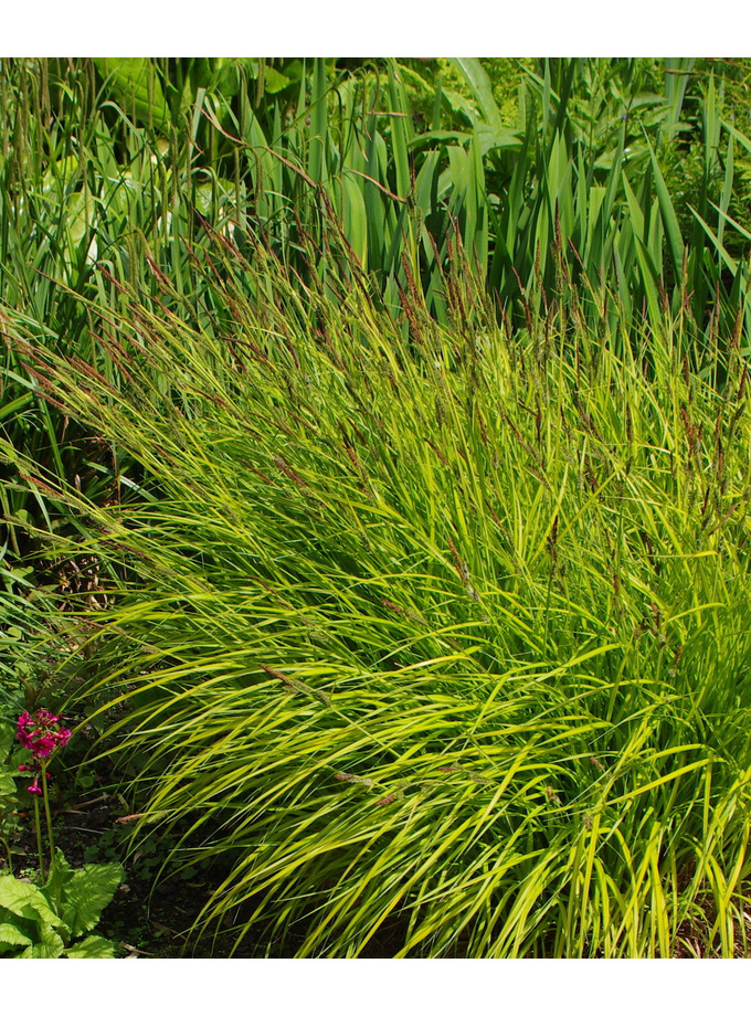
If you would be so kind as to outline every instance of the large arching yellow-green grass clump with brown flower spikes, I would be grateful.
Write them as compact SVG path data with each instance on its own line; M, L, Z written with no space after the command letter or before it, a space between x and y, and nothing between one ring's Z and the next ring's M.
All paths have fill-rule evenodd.
M224 872L194 931L258 955L745 953L732 336L694 371L680 318L634 348L564 279L501 327L461 251L443 328L328 256L293 285L218 239L193 325L127 292L96 331L119 388L7 324L138 463L106 508L57 494L108 596L71 597L65 708L105 728L135 835L180 837L165 875Z

